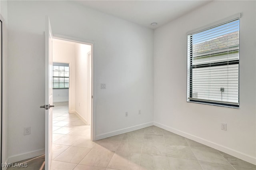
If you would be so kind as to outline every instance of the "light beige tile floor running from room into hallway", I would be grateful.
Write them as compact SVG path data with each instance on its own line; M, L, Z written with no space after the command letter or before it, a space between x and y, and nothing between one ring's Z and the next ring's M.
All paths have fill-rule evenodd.
M51 170L256 170L155 126L92 142L90 126L69 114L67 103L54 104Z

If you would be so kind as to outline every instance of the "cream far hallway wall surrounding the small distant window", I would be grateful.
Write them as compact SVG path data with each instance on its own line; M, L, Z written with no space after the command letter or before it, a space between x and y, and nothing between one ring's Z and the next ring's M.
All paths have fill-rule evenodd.
M69 113L75 111L75 44L53 39L52 60L56 63L69 63L69 89L53 89L53 101L69 101ZM69 95L70 93L70 95Z

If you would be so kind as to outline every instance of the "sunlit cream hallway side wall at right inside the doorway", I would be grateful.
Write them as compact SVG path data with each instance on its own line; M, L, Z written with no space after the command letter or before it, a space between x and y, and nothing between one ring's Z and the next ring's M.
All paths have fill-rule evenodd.
M87 53L92 51L91 45L77 43L75 45L75 110L78 115L82 117L82 120L89 125L90 113L88 113L89 102L88 101L88 88L89 82L87 78Z

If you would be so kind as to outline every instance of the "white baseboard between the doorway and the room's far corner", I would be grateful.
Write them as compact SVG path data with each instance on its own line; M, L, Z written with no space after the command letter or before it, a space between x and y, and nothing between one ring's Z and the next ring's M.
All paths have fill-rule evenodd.
M131 132L133 130L138 130L138 129L145 128L145 127L150 127L152 125L153 125L153 122L148 122L148 123L143 123L143 124L128 127L128 128L122 128L120 130L114 130L114 131L108 132L108 133L98 134L98 135L95 136L95 140L100 140L100 139L115 136L115 135L118 135L118 134Z

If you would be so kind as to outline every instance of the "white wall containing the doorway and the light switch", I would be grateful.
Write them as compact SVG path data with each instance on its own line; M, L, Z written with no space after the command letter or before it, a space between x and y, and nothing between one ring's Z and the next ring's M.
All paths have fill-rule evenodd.
M8 156L44 149L45 16L53 34L95 42L95 134L153 121L153 30L69 1L8 1ZM18 82L18 86L17 86ZM107 88L100 89L100 83ZM22 109L30 106L28 109ZM141 115L138 115L141 109ZM129 116L125 117L125 112ZM23 135L23 127L31 127ZM28 153L28 154L26 154ZM17 159L16 159L17 160Z

